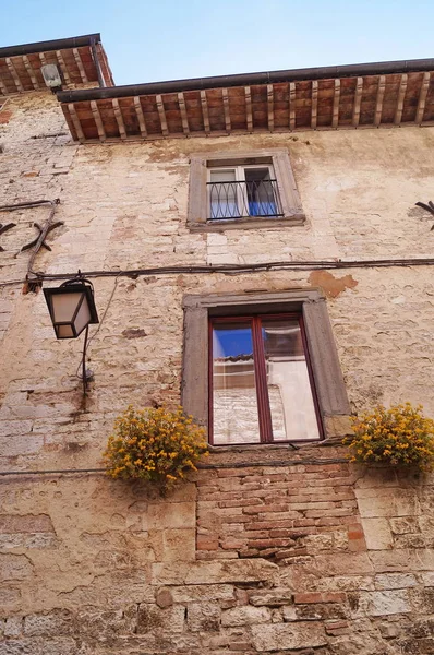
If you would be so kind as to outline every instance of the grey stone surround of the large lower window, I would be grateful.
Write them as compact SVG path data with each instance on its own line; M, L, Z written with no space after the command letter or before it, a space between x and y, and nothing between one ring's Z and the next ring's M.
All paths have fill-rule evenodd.
M328 439L347 433L348 417L351 414L350 404L326 300L317 289L186 295L183 300L183 309L181 403L184 410L191 414L200 425L208 427L209 318L296 311L301 313L304 322L324 437ZM317 442L317 440L315 441ZM257 445L269 448L272 444ZM237 445L237 448L251 446Z

